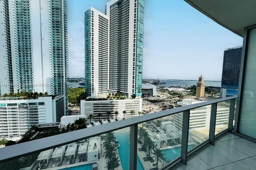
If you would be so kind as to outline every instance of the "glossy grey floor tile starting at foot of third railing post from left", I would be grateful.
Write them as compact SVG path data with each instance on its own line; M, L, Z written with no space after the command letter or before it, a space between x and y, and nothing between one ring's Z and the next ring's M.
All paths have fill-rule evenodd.
M216 143L215 145L209 145L209 147L232 162L249 157L223 142Z

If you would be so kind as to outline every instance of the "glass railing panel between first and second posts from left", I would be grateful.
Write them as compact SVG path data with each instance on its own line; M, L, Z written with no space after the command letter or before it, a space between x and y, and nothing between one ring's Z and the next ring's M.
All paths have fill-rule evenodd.
M137 170L162 168L180 158L183 113L138 125Z

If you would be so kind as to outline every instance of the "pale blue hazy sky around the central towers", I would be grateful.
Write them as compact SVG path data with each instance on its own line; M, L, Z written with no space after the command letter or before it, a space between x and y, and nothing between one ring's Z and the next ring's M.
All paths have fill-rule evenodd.
M68 0L69 76L84 76L84 12L108 0ZM242 38L183 0L145 0L143 78L221 80L224 49Z

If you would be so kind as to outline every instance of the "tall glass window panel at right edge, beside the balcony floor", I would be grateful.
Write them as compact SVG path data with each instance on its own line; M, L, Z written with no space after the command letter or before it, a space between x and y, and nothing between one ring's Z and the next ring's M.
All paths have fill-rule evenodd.
M256 139L256 28L248 31L238 132Z

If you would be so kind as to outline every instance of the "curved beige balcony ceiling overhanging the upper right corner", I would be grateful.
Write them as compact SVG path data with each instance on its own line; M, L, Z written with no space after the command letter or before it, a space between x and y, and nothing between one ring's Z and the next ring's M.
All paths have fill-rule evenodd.
M244 36L256 24L256 0L184 0L221 26Z

